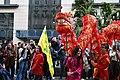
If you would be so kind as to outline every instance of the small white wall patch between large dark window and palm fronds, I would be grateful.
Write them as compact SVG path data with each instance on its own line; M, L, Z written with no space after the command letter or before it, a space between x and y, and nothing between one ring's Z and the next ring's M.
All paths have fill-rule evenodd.
M72 3L74 3L74 0L61 0L61 6L63 7L61 12L70 12Z

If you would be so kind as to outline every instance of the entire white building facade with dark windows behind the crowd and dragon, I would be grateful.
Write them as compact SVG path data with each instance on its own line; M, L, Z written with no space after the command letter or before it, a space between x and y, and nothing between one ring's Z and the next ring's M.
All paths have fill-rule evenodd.
M44 26L47 27L49 37L57 36L55 15L60 11L71 11L74 1L0 0L0 40L10 39L14 43L28 42L30 39L38 41ZM120 0L94 0L98 11L103 1L120 5Z

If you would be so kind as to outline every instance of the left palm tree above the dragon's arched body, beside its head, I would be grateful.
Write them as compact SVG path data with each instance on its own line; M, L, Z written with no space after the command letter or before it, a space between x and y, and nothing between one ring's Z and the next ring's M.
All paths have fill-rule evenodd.
M75 12L74 17L78 18L75 28L75 33L78 37L82 27L81 18L86 14L96 15L96 9L93 8L93 0L75 0L72 11Z

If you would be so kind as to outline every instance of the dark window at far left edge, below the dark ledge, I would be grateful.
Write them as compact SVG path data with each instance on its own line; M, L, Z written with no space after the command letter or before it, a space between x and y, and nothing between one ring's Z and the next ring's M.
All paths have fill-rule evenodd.
M0 13L0 38L13 38L14 13Z

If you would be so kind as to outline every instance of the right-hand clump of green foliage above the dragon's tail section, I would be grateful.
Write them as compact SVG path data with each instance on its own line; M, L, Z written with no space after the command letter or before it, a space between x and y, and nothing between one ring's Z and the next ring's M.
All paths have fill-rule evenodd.
M97 16L100 29L107 27L113 20L117 20L117 10L115 9L115 5L103 2L100 8L100 15Z

